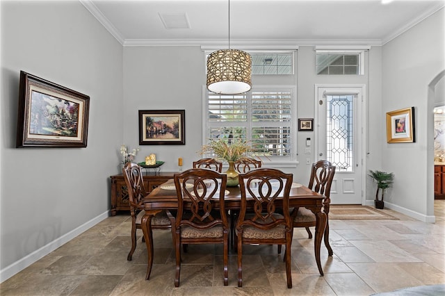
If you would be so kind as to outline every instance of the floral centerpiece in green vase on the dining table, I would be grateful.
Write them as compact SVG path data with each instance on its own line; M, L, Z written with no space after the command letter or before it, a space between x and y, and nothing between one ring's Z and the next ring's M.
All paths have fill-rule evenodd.
M229 142L230 140L230 142ZM219 139L210 140L209 144L201 147L200 154L214 154L218 161L227 161L229 169L227 172L227 186L238 186L238 172L235 170L235 161L247 158L252 151L248 142L241 139Z

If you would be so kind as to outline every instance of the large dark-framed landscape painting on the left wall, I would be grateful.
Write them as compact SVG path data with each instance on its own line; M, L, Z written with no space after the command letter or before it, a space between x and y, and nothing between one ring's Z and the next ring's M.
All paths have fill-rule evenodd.
M86 147L90 97L21 71L16 147Z

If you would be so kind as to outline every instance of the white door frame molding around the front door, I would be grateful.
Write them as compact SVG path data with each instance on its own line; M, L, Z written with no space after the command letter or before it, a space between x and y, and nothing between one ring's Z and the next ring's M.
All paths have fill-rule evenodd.
M368 121L368 113L367 113L367 100L366 100L366 84L315 84L314 85L314 149L315 153L318 153L318 131L319 131L319 121L318 121L318 91L321 88L333 89L335 92L329 93L338 93L338 94L361 94L362 95L362 103L360 104L361 109L359 110L359 115L361 115L361 124L362 124L362 142L361 142L361 156L362 156L362 205L363 206L373 206L373 201L366 202L366 147L368 143L368 129L367 129L367 121ZM357 92L357 90L359 90ZM317 157L317 156L316 156Z

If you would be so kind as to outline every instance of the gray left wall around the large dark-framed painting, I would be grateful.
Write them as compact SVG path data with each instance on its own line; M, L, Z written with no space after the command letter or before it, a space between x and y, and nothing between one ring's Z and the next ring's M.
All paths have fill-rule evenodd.
M123 71L122 45L79 1L0 5L4 279L108 215L108 176L118 172L122 144ZM88 147L15 148L20 70L90 96Z

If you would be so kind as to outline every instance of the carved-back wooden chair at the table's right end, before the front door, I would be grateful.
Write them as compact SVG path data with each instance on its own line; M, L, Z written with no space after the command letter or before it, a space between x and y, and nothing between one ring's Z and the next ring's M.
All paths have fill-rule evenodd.
M330 192L332 186L332 180L334 179L335 166L329 161L318 161L312 164L311 176L309 177L309 189L314 190L322 195L325 195L323 202L323 211L327 215L326 233L329 233L329 204L330 204ZM309 227L316 226L316 216L312 211L307 208L293 208L291 216L293 217L293 227L305 227L309 238L312 238L312 232ZM325 245L332 255L332 249L326 242L327 236L325 236Z

